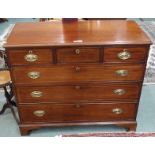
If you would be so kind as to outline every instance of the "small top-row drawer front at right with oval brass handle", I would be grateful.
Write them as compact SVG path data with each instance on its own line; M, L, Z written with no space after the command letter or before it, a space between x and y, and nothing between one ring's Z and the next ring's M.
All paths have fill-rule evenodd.
M145 47L107 47L104 49L105 62L144 62L148 48Z

